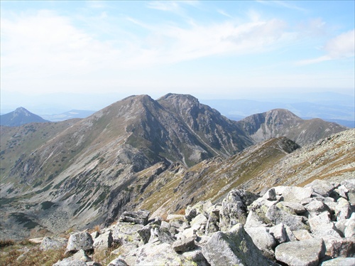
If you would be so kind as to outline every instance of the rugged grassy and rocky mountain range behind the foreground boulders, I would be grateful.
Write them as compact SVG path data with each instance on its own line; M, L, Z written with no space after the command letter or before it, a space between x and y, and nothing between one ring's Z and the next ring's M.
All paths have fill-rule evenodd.
M23 238L109 224L134 208L174 212L239 186L304 182L320 169L303 154L316 161L329 143L323 178L349 176L354 130L346 129L280 109L236 122L176 94L126 97L84 119L1 126L1 230ZM295 177L302 167L305 180Z

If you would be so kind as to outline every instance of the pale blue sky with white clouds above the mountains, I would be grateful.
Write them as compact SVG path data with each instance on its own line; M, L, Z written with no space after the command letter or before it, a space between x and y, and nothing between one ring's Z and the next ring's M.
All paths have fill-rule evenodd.
M0 3L1 113L169 92L354 97L353 0Z

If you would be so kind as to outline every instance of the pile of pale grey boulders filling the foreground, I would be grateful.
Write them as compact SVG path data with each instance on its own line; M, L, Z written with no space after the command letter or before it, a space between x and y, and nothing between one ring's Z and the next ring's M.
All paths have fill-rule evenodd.
M275 186L261 194L235 189L222 203L200 202L164 219L126 211L91 234L45 237L40 249L66 247L56 266L355 265L354 180ZM92 261L103 251L110 261Z

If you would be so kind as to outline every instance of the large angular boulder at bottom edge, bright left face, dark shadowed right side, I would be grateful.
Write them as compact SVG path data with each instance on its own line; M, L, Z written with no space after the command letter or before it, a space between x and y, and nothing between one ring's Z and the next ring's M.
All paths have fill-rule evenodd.
M211 266L271 265L241 224L234 225L229 232L214 233L203 246L202 253Z

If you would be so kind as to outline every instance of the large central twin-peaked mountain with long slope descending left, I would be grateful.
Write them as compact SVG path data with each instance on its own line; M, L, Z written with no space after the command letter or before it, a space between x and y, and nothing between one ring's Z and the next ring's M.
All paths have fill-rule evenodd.
M285 132L281 129L278 132ZM331 135L332 129L326 133ZM175 188L183 187L183 183L178 186L182 180L178 174L186 169L196 169L196 176L204 176L201 173L209 172L209 164L218 168L219 162L239 156L256 144L249 134L253 133L244 132L241 123L226 119L197 98L175 94L158 100L148 95L126 97L85 119L1 127L1 161L6 163L1 164L5 204L0 211L9 215L18 204L28 206L21 209L21 215L37 224L36 228L50 231L110 223L123 211L138 208L139 198L151 205L148 198L159 193L165 183L169 184L166 191L174 194ZM297 145L292 140L284 142L290 147ZM287 153L279 145L271 150L278 154L273 159ZM261 166L252 158L250 164L241 164L243 180L249 180L251 164L260 171L264 164L271 166L273 152L266 156L269 161L261 160ZM243 183L238 182L231 184ZM45 202L52 207L40 208ZM180 207L184 202L180 201Z

